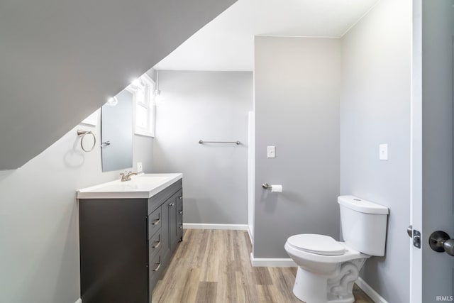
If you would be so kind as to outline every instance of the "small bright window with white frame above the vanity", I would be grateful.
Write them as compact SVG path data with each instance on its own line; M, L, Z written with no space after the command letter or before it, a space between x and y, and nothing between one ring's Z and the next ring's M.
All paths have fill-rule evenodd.
M128 91L133 94L135 108L135 131L136 135L155 136L155 82L144 74L136 79Z

